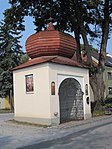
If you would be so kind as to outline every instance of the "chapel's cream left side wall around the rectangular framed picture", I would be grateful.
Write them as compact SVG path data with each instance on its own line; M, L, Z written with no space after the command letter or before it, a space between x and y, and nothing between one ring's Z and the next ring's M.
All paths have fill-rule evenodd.
M26 93L25 75L33 74L34 93ZM40 64L13 72L15 117L49 119L49 67Z

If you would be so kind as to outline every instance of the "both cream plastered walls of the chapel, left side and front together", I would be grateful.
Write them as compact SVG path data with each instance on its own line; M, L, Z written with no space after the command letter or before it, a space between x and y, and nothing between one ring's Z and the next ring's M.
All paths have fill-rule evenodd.
M33 74L34 93L26 93L25 75ZM85 84L88 84L88 69L59 65L54 63L44 63L13 72L14 79L14 106L15 117L20 117L23 121L41 124L59 124L60 106L58 89L60 83L66 78L75 78L82 87L84 118L91 117L90 104L86 102ZM51 82L55 82L55 95L51 95ZM35 119L35 120L33 120ZM39 120L40 119L40 120Z

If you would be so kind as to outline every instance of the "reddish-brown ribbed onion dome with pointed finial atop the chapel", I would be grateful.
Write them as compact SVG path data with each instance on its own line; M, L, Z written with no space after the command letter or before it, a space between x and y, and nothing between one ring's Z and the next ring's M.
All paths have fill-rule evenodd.
M26 40L26 51L30 58L53 55L71 58L76 48L75 38L55 30L52 22L47 30L33 34Z

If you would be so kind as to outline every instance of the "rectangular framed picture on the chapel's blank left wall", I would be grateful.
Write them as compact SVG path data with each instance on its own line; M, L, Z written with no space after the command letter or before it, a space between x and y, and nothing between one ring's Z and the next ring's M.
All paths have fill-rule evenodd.
M33 74L26 75L25 80L26 80L26 92L27 93L34 92Z

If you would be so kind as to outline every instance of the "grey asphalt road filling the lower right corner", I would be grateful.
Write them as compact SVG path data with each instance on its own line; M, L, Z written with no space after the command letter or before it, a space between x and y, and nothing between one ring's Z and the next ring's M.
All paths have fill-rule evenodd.
M112 122L96 125L67 136L21 149L112 149Z

